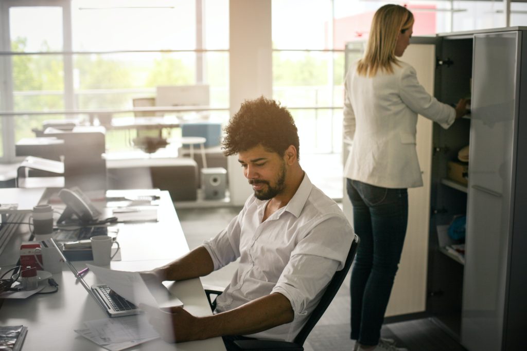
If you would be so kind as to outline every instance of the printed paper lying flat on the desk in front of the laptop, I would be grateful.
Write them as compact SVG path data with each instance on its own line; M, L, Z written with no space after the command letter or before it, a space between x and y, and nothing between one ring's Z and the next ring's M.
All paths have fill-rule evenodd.
M75 333L110 351L119 351L159 338L145 315L105 318L84 322Z

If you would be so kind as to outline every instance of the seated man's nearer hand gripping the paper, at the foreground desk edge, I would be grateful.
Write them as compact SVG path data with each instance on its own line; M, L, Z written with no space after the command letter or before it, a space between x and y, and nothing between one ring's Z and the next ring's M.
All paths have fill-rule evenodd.
M194 317L182 307L170 307L168 312L159 308L139 305L148 315L148 321L167 343L181 343L200 339L198 318Z

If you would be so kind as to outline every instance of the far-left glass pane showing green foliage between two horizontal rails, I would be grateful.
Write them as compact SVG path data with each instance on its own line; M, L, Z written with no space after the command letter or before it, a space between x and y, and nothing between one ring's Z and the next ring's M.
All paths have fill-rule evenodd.
M64 108L62 56L15 55L11 62L14 111Z

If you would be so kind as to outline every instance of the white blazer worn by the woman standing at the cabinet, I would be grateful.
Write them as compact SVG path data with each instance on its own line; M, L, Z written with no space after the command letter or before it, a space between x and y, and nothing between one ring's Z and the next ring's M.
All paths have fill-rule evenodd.
M394 73L346 75L344 139L352 148L344 176L385 188L423 185L415 149L417 114L443 128L454 123L455 109L440 103L417 82L414 67L399 62Z

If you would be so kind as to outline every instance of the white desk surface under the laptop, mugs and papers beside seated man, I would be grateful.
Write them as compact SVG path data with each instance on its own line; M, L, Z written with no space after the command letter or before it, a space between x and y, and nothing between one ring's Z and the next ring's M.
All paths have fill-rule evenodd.
M188 252L187 241L168 192L161 192L158 215L160 220L157 223L122 225L118 234L122 260L112 262L111 268L129 271L151 269ZM74 265L80 269L85 262L74 262ZM23 324L28 327L23 350L103 350L77 335L74 329L86 320L106 318L105 312L80 284L75 284L73 274L65 265L63 272L54 274L53 278L59 284L56 294L4 300L0 309L0 325ZM86 274L85 280L88 284L96 283L96 277L91 272ZM211 314L199 278L165 284L182 300L184 308L191 314ZM167 344L157 339L130 349L225 351L225 346L222 339L217 337L180 344Z

